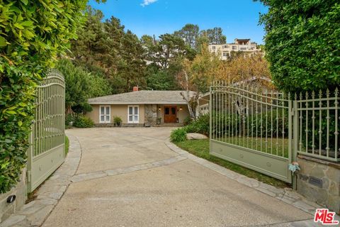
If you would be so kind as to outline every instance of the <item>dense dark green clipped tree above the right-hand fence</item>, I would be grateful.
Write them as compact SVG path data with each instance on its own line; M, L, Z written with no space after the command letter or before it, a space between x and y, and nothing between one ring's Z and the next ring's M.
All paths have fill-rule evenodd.
M262 0L268 13L266 58L273 81L285 92L335 89L340 84L338 1Z

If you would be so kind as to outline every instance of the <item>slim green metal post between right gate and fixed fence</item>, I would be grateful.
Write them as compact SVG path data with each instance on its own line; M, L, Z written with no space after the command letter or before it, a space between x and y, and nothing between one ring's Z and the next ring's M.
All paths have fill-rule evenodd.
M299 140L299 112L297 111L297 96L295 94L294 96L294 101L293 101L293 150L292 150L292 155L293 155L293 162L296 161L297 159L297 149L298 149L298 140ZM290 124L290 127L292 127L292 124ZM296 175L293 175L293 189L297 189L296 185Z

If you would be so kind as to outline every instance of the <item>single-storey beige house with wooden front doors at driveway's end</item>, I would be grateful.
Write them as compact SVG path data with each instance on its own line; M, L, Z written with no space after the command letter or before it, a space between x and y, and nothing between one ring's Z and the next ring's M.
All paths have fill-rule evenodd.
M112 125L115 116L123 120L123 126L181 125L190 116L188 104L181 93L140 91L134 87L132 92L89 99L92 111L86 116L96 126Z

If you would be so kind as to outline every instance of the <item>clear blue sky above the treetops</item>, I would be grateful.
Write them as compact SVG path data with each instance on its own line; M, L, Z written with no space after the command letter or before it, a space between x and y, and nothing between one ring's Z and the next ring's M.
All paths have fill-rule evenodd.
M107 0L95 9L103 11L105 18L119 18L125 29L141 37L174 33L186 23L197 24L200 30L221 27L227 43L235 38L251 38L263 44L263 26L259 26L259 13L267 9L253 0Z

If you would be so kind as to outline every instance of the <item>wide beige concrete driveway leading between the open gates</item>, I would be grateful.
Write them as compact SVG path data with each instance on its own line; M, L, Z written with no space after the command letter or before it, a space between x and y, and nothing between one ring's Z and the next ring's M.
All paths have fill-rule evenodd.
M81 162L44 226L282 226L312 218L179 156L165 144L171 129L67 131L81 144Z

